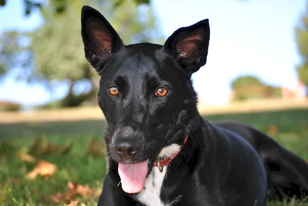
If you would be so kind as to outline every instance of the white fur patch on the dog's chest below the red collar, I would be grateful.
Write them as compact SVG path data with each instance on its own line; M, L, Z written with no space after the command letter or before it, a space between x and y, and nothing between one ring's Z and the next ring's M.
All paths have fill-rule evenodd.
M157 167L153 167L152 173L148 176L143 190L141 190L135 199L146 206L168 206L160 200L160 190L167 172L164 167L163 172L159 172Z

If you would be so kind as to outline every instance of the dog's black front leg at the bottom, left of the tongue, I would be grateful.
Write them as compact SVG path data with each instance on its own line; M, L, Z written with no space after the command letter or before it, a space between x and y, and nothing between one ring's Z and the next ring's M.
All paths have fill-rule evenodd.
M134 203L132 198L125 195L121 186L117 186L118 183L114 181L115 178L112 175L108 172L105 175L103 192L97 206L135 206L136 202Z

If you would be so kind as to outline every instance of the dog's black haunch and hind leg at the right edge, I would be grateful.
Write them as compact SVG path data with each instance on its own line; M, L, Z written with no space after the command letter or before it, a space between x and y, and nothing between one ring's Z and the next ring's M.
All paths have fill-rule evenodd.
M304 160L252 127L233 121L214 124L237 132L257 150L267 172L268 200L290 200L293 196L308 195L308 164Z

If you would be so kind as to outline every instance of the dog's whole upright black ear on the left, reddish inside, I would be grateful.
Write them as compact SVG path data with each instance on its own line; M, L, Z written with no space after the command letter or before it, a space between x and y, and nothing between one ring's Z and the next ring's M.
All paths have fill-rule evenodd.
M124 46L106 18L90 6L83 6L81 10L81 35L86 59L97 72Z

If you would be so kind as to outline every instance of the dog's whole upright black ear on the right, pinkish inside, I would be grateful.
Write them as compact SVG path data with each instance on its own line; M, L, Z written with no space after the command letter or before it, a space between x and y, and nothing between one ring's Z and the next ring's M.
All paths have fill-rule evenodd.
M206 63L210 38L209 19L176 30L165 42L166 49L191 75Z

